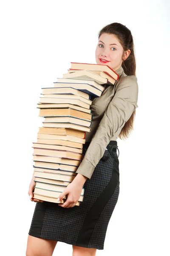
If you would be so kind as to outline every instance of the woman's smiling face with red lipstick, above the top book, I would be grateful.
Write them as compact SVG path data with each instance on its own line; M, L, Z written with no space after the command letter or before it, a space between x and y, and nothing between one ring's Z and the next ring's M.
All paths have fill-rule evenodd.
M122 65L123 47L113 34L104 33L99 37L96 47L96 64L108 65L113 70L118 70ZM106 61L102 61L106 60Z

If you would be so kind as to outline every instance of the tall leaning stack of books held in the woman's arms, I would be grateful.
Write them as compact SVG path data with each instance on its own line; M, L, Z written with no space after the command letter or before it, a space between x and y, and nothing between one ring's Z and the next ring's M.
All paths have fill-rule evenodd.
M33 198L58 203L57 198L74 180L83 159L85 134L91 131L93 119L91 97L101 96L105 90L102 85L115 84L118 78L108 66L71 62L71 69L54 82L54 87L42 88L37 108L45 119L37 143L33 143ZM77 206L83 195L84 188Z

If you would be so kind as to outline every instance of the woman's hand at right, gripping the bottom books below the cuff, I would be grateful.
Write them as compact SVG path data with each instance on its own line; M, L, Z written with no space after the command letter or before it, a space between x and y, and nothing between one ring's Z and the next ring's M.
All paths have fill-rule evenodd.
M65 195L68 195L65 203L58 204L58 205L64 208L74 207L75 205L73 204L76 204L79 201L79 197L82 192L82 187L86 179L87 177L81 174L77 174L74 180L70 184L68 184L68 186L64 189L64 191L59 195L58 201L61 201L61 199Z

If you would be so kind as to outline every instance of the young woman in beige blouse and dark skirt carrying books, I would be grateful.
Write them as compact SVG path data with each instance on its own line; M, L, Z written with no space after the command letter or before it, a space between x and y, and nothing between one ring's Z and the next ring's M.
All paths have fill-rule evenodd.
M64 204L32 198L34 176L28 194L37 202L28 233L27 256L51 256L57 241L72 244L73 256L95 256L104 249L105 235L119 197L117 138L129 137L138 100L136 61L130 30L111 23L99 32L96 63L119 74L114 85L105 84L102 96L93 99L91 132L86 133L84 158L77 176L60 194ZM84 199L75 207L84 185Z

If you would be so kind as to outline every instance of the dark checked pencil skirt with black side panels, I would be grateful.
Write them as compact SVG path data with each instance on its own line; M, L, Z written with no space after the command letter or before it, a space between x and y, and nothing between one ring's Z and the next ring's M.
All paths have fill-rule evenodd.
M108 145L91 179L84 184L79 206L60 207L57 203L36 203L30 236L51 239L80 247L104 249L108 223L119 197L117 141Z

